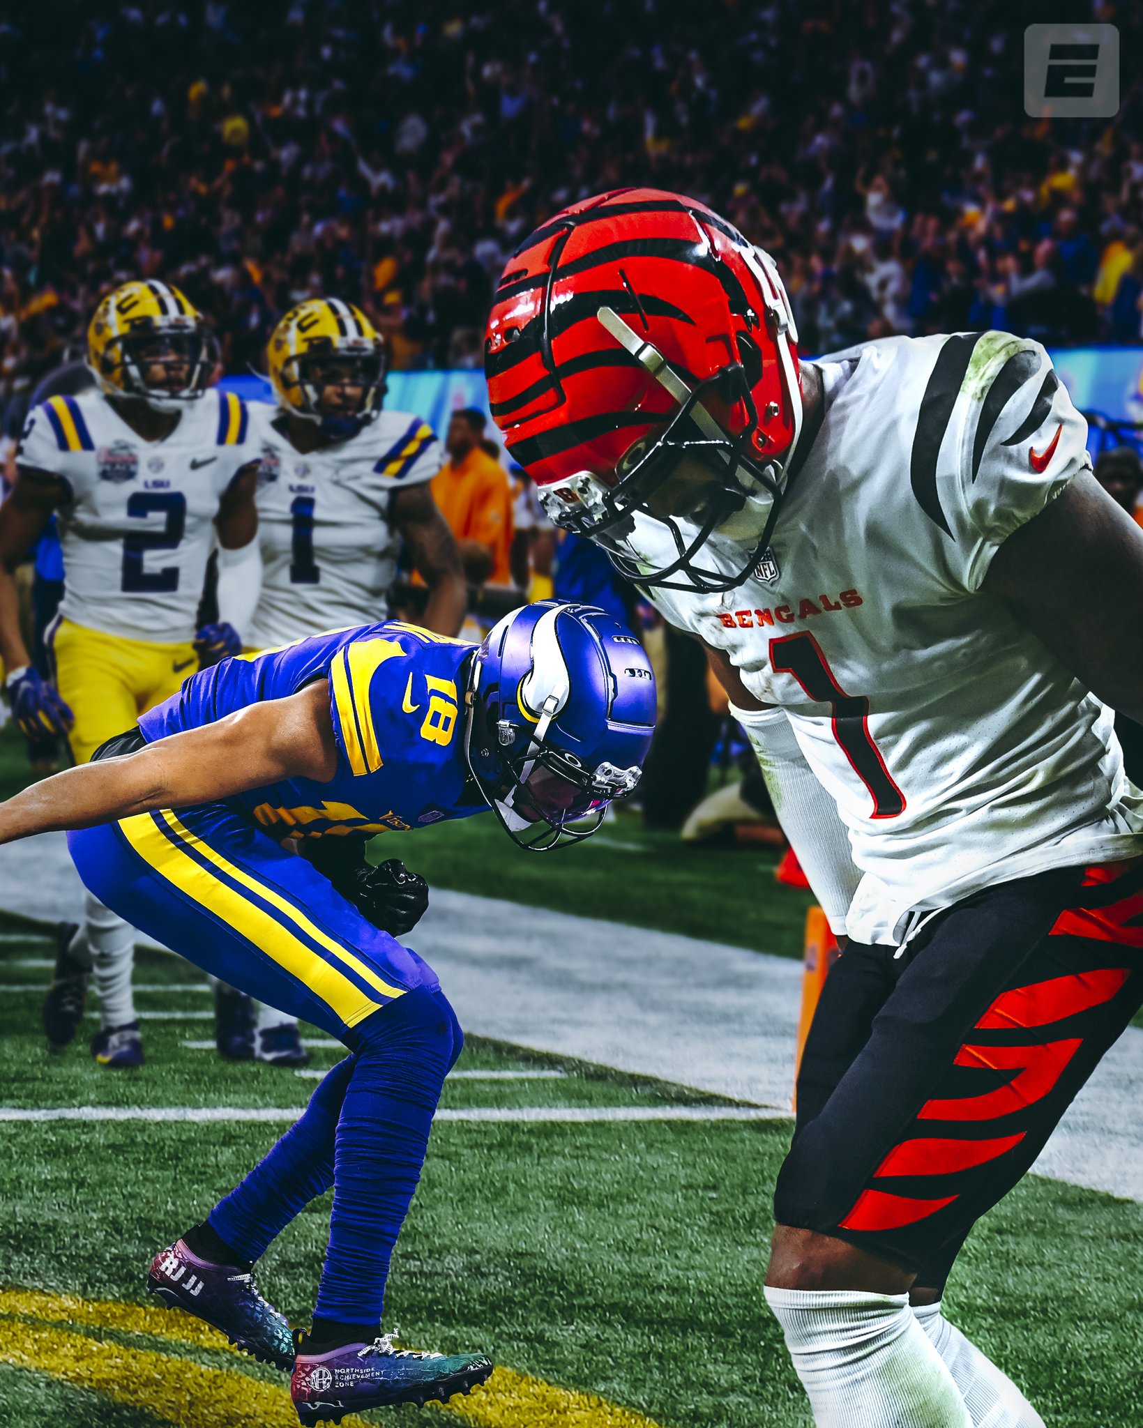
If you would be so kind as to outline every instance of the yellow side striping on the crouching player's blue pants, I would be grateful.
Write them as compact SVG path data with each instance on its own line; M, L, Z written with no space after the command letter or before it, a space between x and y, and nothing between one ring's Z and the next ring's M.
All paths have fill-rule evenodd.
M236 883L249 887L251 891L257 892L264 901L277 907L287 915L293 914L294 910L284 898L279 897L273 888L257 883L254 878L244 874L240 868L229 864L226 858L214 853L213 848L207 847L201 838L196 838L189 830L183 828L179 820L170 811L163 811L160 817L166 821L167 827L179 834L183 841L196 847L196 850L206 857L209 861L214 863L223 871L229 873ZM160 830L156 827L150 814L136 814L131 818L120 820L119 827L123 830L124 837L134 848L134 851L143 858L149 867L153 867L156 873L167 880L180 892L184 892L194 902L210 908L211 912L221 917L229 922L236 932L244 937L247 941L253 942L269 957L271 957L281 968L284 968L291 977L297 977L316 997L320 997L347 1025L356 1027L357 1022L364 1021L366 1017L371 1015L379 1002L374 1002L366 992L361 991L343 971L333 967L323 957L319 957L313 948L307 947L296 932L291 932L289 927L283 925L276 917L260 908L250 898L243 897L241 892L231 888L221 878L210 874L200 863L190 857L189 853L179 848L177 844L171 843ZM293 915L291 920L303 928L303 931L310 931L313 924L309 924L307 918ZM309 924L309 925L307 925ZM379 977L376 977L364 964L356 958L349 957L344 948L339 948L331 938L319 932L317 928L313 930L319 935L314 938L321 945L329 945L330 950L340 952L343 961L349 965L357 964L354 971L359 971L370 985L376 987L377 991L383 992L386 997L400 997L401 988L389 987ZM313 934L311 934L313 935Z

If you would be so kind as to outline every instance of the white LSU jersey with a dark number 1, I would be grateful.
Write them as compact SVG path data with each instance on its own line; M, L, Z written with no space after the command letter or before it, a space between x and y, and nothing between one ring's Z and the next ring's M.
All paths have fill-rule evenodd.
M259 548L261 594L243 643L289 644L384 620L400 536L389 518L394 491L430 481L441 447L420 417L380 411L349 441L301 453L260 404Z

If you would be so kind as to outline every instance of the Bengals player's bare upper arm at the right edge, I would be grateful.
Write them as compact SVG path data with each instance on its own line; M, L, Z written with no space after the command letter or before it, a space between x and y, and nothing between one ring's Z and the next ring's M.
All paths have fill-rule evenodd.
M1007 537L983 588L1093 694L1143 723L1143 530L1090 471Z

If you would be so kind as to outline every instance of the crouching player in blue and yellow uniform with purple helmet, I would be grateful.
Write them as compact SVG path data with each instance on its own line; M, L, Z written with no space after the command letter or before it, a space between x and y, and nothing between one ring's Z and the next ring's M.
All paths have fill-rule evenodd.
M403 935L427 904L369 837L486 807L524 847L599 827L654 725L639 641L589 605L506 615L480 645L389 621L193 675L139 727L0 805L0 843L66 828L84 884L207 972L311 1021L350 1055L149 1287L239 1348L293 1367L303 1424L447 1401L480 1354L393 1349L389 1259L461 1032ZM313 1324L294 1342L253 1264L333 1185Z

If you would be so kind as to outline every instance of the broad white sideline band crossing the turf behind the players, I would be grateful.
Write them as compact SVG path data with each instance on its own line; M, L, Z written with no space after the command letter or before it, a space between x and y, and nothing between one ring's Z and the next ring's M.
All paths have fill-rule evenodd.
M619 898L620 877L616 902L592 911L607 912ZM0 905L76 917L83 891L63 834L0 850ZM790 1104L797 962L437 890L410 942L440 975L466 1031L777 1111ZM170 1021L210 1015L151 1014ZM1080 1092L1037 1171L1143 1202L1142 1100L1143 1030L1130 1028Z

